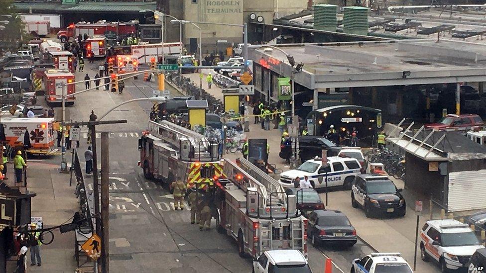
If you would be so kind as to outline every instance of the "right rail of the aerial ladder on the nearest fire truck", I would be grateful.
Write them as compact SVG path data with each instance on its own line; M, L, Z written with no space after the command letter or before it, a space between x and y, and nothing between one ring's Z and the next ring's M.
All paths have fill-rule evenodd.
M268 204L271 202L271 204L282 204L284 207L287 206L285 191L280 183L244 158L237 159L237 164L251 177L263 184L267 191L271 193L265 198Z

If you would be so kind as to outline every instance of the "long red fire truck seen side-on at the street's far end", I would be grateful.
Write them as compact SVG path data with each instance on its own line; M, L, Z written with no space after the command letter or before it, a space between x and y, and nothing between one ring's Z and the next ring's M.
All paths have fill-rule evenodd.
M96 23L79 22L77 24L70 24L66 30L59 30L57 32L57 38L61 42L66 42L69 38L76 38L79 34L93 35L106 35L108 33L114 33L117 36L124 38L128 35L137 34L137 22L106 22L99 21Z

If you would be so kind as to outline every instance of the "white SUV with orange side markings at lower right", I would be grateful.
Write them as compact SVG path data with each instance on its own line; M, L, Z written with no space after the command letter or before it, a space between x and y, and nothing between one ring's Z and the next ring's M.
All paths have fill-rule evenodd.
M435 260L442 272L469 267L471 256L483 248L468 224L458 220L430 220L420 232L422 261Z

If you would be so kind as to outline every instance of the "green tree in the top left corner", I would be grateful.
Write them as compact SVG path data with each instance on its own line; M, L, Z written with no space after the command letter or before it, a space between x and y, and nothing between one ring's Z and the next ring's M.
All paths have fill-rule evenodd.
M22 41L28 41L29 38L13 6L13 0L0 0L0 50L18 48Z

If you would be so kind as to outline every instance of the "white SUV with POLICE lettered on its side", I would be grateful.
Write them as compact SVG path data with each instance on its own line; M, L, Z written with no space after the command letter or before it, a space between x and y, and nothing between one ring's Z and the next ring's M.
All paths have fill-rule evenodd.
M361 173L360 169L360 163L354 158L328 157L327 166L322 165L320 158L314 158L295 170L281 173L279 182L283 187L293 187L296 177L303 180L304 176L308 176L316 189L326 187L326 179L328 187L344 186L351 189L355 177Z

